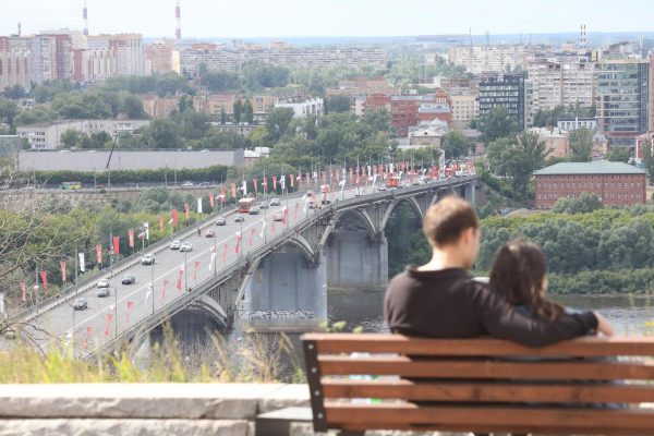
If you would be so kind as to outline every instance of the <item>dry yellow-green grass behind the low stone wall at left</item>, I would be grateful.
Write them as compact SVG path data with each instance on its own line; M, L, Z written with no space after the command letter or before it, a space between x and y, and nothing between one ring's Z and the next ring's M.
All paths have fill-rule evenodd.
M181 347L169 325L148 355L126 353L75 356L71 348L47 353L16 342L0 351L0 384L53 383L303 383L302 362L286 335L246 335L228 343L214 334L210 343Z

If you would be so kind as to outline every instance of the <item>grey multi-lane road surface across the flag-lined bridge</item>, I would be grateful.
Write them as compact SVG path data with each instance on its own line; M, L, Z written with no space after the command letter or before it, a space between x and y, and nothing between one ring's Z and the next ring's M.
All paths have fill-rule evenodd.
M374 192L374 186L362 187L361 191L363 195L371 194ZM320 194L316 193L316 196L319 201ZM352 196L354 196L354 189L329 194L331 201ZM237 261L239 256L235 253L237 232L241 234L240 253L245 255L251 250L265 244L266 240L275 233L284 230L282 222L272 220L275 214L283 214L284 207L289 209L286 227L293 226L294 222L313 211L310 207L305 207L308 202L303 198L287 196L279 198L281 199L280 206L262 209L259 215L238 214L235 211L227 214L225 216L227 226L216 226L215 219L211 222L201 223L202 235L193 232L187 238L180 239L182 242L193 244L192 252L181 253L165 250L156 254L154 265L137 264L120 274L112 274L108 268L107 272L100 278L110 281L110 296L96 296L97 288L95 283L80 289L77 298L84 298L88 303L88 308L73 311L72 304L75 298L70 298L65 303L59 304L32 319L33 324L37 324L40 329L47 332L46 335L45 332L33 331L34 337L43 346L59 341L69 342L74 339L75 346L78 348L89 350L97 348L112 338L117 331L122 331L133 323L153 314L154 311L179 298L184 289L192 288L195 283L209 278L214 274L214 268L220 270L221 267ZM237 216L243 216L245 221L243 223L234 222ZM266 222L265 230L263 221ZM206 238L208 229L215 231L214 238ZM211 251L214 249L216 251L215 265L210 268ZM146 247L143 254L147 253ZM134 284L121 283L121 278L128 274L136 277ZM178 289L180 279L181 290ZM153 282L154 288L150 290ZM74 338L72 336L73 329Z

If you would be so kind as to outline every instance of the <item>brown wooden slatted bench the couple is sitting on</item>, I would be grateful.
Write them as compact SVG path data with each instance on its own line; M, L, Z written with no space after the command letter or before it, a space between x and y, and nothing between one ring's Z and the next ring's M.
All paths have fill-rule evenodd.
M654 435L654 338L302 337L314 429Z

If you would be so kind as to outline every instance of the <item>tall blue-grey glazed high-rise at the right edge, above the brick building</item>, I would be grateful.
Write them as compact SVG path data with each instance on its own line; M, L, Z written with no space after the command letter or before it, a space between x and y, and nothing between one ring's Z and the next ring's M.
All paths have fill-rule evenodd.
M595 65L597 125L609 147L635 149L650 125L650 60L608 59Z

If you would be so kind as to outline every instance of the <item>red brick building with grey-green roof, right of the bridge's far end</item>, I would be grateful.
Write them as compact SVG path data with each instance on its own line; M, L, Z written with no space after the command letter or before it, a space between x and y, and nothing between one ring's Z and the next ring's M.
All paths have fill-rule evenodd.
M606 206L645 204L645 170L621 162L556 164L535 171L536 209L550 209L559 198L597 194Z

